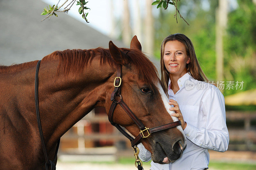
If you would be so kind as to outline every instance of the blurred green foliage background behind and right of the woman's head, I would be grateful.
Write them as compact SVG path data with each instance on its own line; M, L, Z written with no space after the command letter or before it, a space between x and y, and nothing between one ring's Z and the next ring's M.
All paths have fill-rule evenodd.
M205 9L201 0L180 1L178 8L188 21L173 18L174 10L159 9L155 18L154 54L160 58L162 40L170 34L187 35L194 44L196 56L210 81L216 80L215 37L218 1L208 1ZM229 8L224 35L224 80L244 81L243 89L224 89L224 96L256 88L256 4L252 0L237 0L236 9Z

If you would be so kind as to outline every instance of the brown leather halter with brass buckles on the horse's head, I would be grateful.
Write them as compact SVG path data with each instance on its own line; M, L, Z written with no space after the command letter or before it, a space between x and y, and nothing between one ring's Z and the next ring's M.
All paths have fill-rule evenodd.
M151 133L155 133L155 132L158 132L158 131L161 131L161 130L165 130L165 129L169 129L169 128L174 128L176 126L181 125L181 122L179 120L179 121L168 123L168 124L165 124L165 125L162 125L162 126L158 126L158 127L155 127L155 128L147 128L147 127L145 127L143 125L143 123L138 119L138 117L135 116L135 114L130 110L130 108L122 100L122 97L120 95L120 85L121 85L121 81L122 81L121 73L122 73L122 65L118 64L117 65L117 77L114 80L115 89L114 89L114 91L111 94L111 101L113 101L113 102L112 102L111 107L110 107L109 112L108 112L108 120L125 137L127 137L131 141L131 144L132 144L133 148L134 148L134 146L136 146L137 144L140 143L140 140L142 138L148 137L149 135L151 135ZM120 96L121 98L118 101L116 101L116 99L115 99L116 96ZM113 113L115 111L115 108L116 108L117 104L121 105L121 107L124 109L124 111L132 118L132 120L140 128L140 134L137 137L133 138L131 135L129 135L127 132L125 132L125 130L120 125L116 124L113 121Z

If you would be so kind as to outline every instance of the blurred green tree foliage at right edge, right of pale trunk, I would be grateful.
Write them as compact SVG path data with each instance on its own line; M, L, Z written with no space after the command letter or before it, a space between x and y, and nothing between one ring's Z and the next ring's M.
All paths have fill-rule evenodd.
M225 37L226 78L244 81L243 91L256 88L256 5L252 0L237 0L239 6L228 15ZM225 91L225 94L237 90Z

